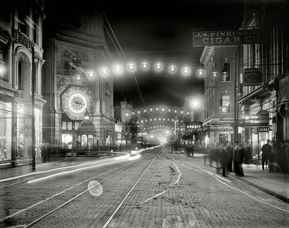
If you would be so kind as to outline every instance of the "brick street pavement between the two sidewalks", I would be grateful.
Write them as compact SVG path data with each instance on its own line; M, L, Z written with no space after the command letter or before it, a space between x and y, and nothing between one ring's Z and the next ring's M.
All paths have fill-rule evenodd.
M142 153L144 154L147 152ZM288 203L236 178L225 178L231 182L218 178L225 183L223 184L213 176L216 169L205 166L201 158L186 158L179 153L177 156L177 161L167 155L161 156L167 160L160 157L155 159L114 216L111 223L114 225L111 227L287 227L289 212L284 210L289 211ZM104 182L101 196L94 197L87 193L33 227L99 227L109 214L108 210L118 203L152 159L153 157L141 159L121 175ZM182 173L176 184L174 183L179 173L173 162ZM124 164L119 163L88 169L39 184L21 182L22 184L13 185L13 188L0 188L1 191L5 189L1 192L0 205L9 208L5 210L6 215L65 191L11 218L5 226L30 222L87 189L91 180L103 180L113 173L112 169L122 165ZM162 194L153 197L160 193ZM2 200L5 201L4 204ZM2 218L3 213L0 213ZM5 226L1 223L1 227Z

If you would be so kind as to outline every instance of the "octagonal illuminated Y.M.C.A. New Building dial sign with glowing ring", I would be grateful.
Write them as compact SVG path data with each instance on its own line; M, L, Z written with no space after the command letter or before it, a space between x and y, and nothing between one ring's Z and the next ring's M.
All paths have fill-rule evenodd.
M84 119L86 110L91 111L92 96L86 88L71 86L61 96L61 109L70 119Z

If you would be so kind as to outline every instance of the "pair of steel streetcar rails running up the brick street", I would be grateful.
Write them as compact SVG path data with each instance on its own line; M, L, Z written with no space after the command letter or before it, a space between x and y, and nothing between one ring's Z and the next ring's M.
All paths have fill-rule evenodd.
M160 148L157 148L157 149L160 149ZM155 152L157 149L155 149L155 150L152 151L151 153ZM162 149L161 149L160 151L162 151ZM151 154L151 153L149 153L149 154ZM159 153L160 153L160 152L159 152ZM146 155L146 156L147 156L147 155ZM155 158L154 158L154 159L155 159ZM153 160L154 160L154 159L153 159ZM116 173L114 173L114 174L112 174L111 176L105 178L104 180L102 180L102 181L99 182L98 184L96 184L96 185L94 185L94 186L88 188L88 189L85 190L84 192L82 192L82 193L78 194L77 196L75 196L75 197L69 199L69 200L66 201L65 203L63 203L63 204L61 204L60 206L58 206L57 208L54 208L53 210L47 212L46 214L44 214L43 216L41 216L41 217L39 217L38 219L34 220L33 222L29 223L28 225L26 225L26 226L23 227L23 228L28 228L28 227L31 227L32 225L38 223L38 222L39 222L40 220L42 220L43 218L49 216L50 214L52 214L53 212L59 210L60 208L63 208L65 205L67 205L68 203L72 202L74 199L80 197L81 195L85 194L86 192L88 192L88 191L91 190L92 188L94 188L94 187L98 186L99 184L105 182L106 180L110 179L111 177L113 177L114 175L120 173L121 171L123 171L123 170L125 170L125 169L131 167L134 163L136 163L136 162L139 161L139 160L141 160L141 159L138 159L138 160L136 160L136 161L134 161L134 162L131 162L131 164L130 164L129 166L127 166L127 167L125 167L125 168L123 168L123 169L117 171ZM153 161L152 161L152 162L153 162ZM151 163L152 163L152 162L151 162ZM151 165L151 163L150 163L150 165ZM150 166L150 165L149 165L149 166ZM149 166L147 167L147 169L149 168ZM146 169L146 170L147 170L147 169ZM145 171L146 171L146 170L145 170ZM144 172L145 172L145 171L144 171ZM143 175L143 174L144 174L144 173L142 173L142 175ZM142 175L141 175L141 177L142 177ZM141 178L141 177L140 177L140 178ZM138 179L138 181L140 180L140 178ZM137 181L137 182L138 182L138 181ZM137 183L136 183L136 184L137 184ZM136 184L135 184L135 185L136 185ZM132 188L132 189L133 189L133 188ZM132 189L131 189L131 190L132 190ZM131 192L131 191L130 191L130 192ZM129 192L129 193L130 193L130 192ZM129 195L129 194L128 194L128 195ZM128 196L128 195L127 195L127 196ZM125 197L125 198L126 198L126 197ZM124 201L124 200L123 200L123 201ZM115 209L114 209L114 210L115 210ZM118 209L117 209L117 210L118 210ZM117 210L116 210L116 211L117 211ZM112 216L112 217L113 217L113 216ZM111 219L112 219L112 217L111 217ZM5 219L5 218L2 218L2 219L0 219L0 220L3 220L3 219ZM111 219L110 219L110 220L111 220Z

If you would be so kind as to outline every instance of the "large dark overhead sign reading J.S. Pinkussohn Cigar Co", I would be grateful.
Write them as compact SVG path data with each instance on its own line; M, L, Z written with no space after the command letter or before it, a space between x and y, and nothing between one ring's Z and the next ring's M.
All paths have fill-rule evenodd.
M268 29L193 31L193 46L259 44L269 42Z

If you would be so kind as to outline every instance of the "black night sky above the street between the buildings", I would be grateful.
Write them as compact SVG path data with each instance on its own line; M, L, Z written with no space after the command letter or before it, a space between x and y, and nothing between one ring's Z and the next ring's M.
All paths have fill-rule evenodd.
M197 70L204 47L192 46L192 29L238 29L243 20L240 0L47 0L44 22L53 19L51 15L73 15L87 7L103 12L105 40L115 62L125 68L114 76L114 105L126 98L135 109L180 108L186 95L202 94L203 78ZM149 64L145 71L140 67L144 60ZM158 62L162 63L159 72ZM134 74L127 63L135 64ZM177 68L174 74L168 71L172 63ZM182 74L184 66L190 70L188 75Z

